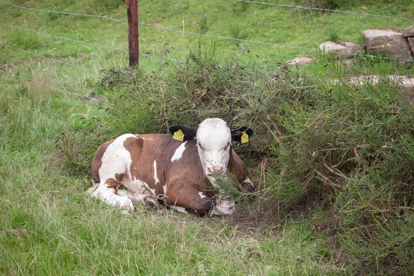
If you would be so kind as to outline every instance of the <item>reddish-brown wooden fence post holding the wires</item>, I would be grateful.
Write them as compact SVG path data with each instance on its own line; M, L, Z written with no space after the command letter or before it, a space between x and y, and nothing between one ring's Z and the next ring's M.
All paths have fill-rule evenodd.
M138 0L126 0L128 15L128 50L129 64L139 66L139 39L138 39Z

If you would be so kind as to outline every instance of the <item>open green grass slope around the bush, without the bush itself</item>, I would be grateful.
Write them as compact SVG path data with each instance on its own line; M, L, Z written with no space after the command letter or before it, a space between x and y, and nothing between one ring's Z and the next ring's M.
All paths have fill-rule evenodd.
M105 1L103 1L105 2ZM110 3L110 1L106 1ZM124 18L123 1L109 8L91 8L86 1L17 1L22 6L69 12L108 14ZM408 17L413 5L368 6L368 12ZM404 8L402 6L404 5ZM117 8L121 6L121 9ZM18 10L0 3L0 21L21 28L127 48L126 23ZM312 47L337 32L339 39L361 41L364 28L406 28L410 22L309 12L235 2L140 1L140 20L169 28L199 32L207 14L208 34L241 34L251 40ZM355 7L362 12L362 6ZM255 14L256 12L256 14ZM237 23L234 19L237 18ZM275 18L283 18L277 20ZM298 23L299 22L299 23ZM305 22L305 24L302 24ZM336 23L335 23L336 22ZM335 26L335 27L333 27ZM92 31L91 31L92 30ZM237 31L238 30L238 31ZM312 35L303 36L311 33ZM140 28L141 52L157 56L170 43L170 57L184 58L197 37ZM0 48L0 69L32 77L70 92L99 90L99 70L126 66L126 54L114 50L44 37L1 26L0 42L94 70L71 68L53 61ZM224 50L232 41L218 41ZM247 45L260 60L290 59L302 50ZM147 70L159 61L141 58ZM323 69L319 69L323 70ZM92 103L44 88L32 81L0 77L0 273L4 275L240 275L339 273L333 260L320 257L326 239L306 221L270 221L267 235L238 233L228 219L198 219L167 210L141 207L121 215L84 195L88 176L68 176L56 161L55 141L72 124L71 115L88 113ZM231 222L231 221L230 221ZM233 225L233 226L232 226ZM322 254L324 255L324 254ZM352 273L347 268L345 273Z

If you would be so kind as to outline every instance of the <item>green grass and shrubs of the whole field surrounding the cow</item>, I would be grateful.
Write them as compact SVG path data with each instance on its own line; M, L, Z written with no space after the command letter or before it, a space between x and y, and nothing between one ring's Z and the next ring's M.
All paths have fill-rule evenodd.
M41 10L126 18L124 1L13 3ZM311 1L295 3L309 6ZM339 3L336 8L342 10L393 17L406 18L414 13L414 4L405 0L319 3L332 3L334 7ZM220 67L219 73L212 73L206 81L197 66L188 66L186 77L190 77L186 82L179 75L182 68L173 61L141 57L142 76L137 79L144 84L131 86L128 77L135 75L126 73L124 79L111 82L108 72L128 66L128 55L114 49L128 48L126 22L23 10L2 1L0 10L1 275L414 272L413 109L393 83L384 81L379 88L368 85L355 89L332 81L360 74L413 75L413 63L360 57L353 66L343 66L317 51L236 40L305 48L332 38L362 43L364 29L404 30L413 21L239 1L139 1L141 22L234 38L200 39L197 35L139 26L141 53L180 60L205 55L206 61L212 62L232 57L237 60L235 67L242 64L246 72L251 68L254 72L224 72ZM197 52L199 43L201 50ZM316 57L317 62L293 68L292 72L283 68L284 61L305 55ZM200 68L214 72L208 66ZM235 74L230 84L226 83L232 76L226 75L228 72ZM275 81L270 76L275 75L291 80L297 90L284 81L273 86ZM299 80L303 76L308 82ZM91 151L99 146L88 144L97 133L103 139L121 134L121 130L148 130L148 124L154 121L145 124L145 120L154 118L139 115L133 110L136 106L142 110L148 106L149 115L159 111L152 107L166 106L170 108L166 115L179 119L173 106L157 98L157 92L161 88L185 95L187 88L203 88L200 79L209 91L219 87L217 90L235 93L231 89L239 85L240 97L250 100L251 96L248 104L255 110L262 108L263 114L257 111L255 116L263 115L262 121L268 125L257 124L257 139L252 146L256 149L253 153L261 152L260 158L244 156L261 193L242 201L238 215L211 218L181 215L162 206L137 206L134 213L122 214L86 195L92 177L87 168L70 166L73 160L63 157L62 148L76 148L65 147L61 133L77 137L78 144L84 141ZM286 98L274 98L275 87L286 91ZM134 100L141 99L135 95L140 89L148 91L148 104L141 101L135 105ZM119 93L132 100L118 101ZM90 101L79 95L98 95L100 100ZM184 97L170 99L177 106L189 101ZM257 99L264 100L258 104ZM118 117L114 117L116 112L103 114L98 110L102 106L119 108ZM249 116L253 117L240 112L240 120ZM100 123L90 125L93 118L100 119ZM137 119L136 126L131 118ZM115 128L117 120L123 119L122 128ZM74 151L69 155L75 155ZM90 157L82 158L88 161ZM276 208L280 210L270 210Z

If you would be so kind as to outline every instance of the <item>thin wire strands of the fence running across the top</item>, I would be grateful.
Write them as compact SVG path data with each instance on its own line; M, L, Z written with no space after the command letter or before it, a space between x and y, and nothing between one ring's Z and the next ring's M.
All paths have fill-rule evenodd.
M388 19L414 21L414 18L392 17L392 16L388 16L388 15L384 15L384 14L368 14L368 13L361 13L361 12L351 12L351 11L346 11L346 10L329 10L329 9L324 9L324 8L311 8L311 7L293 6L293 5L286 5L286 4L281 4L281 3L268 3L268 2L260 2L260 1L248 1L248 0L233 0L233 1L242 2L242 3L249 3L251 5L280 6L280 7L284 7L284 8L297 8L297 9L304 9L304 10L318 10L318 11L324 11L324 12L341 12L341 13L353 14L353 15L363 15L363 16L367 16L367 17L383 17L383 18L388 18ZM120 23L121 22L127 22L127 19L116 19L116 18L104 16L104 15L79 14L79 13L59 11L59 10L42 10L42 9L38 9L38 8L29 8L29 7L19 6L19 5L16 5L14 3L1 1L1 0L0 0L0 3L6 4L6 5L9 5L9 6L13 6L14 8L19 8L21 10L30 10L30 11L34 11L34 12L51 12L51 13L66 14L66 15L76 16L76 17L90 17L90 18L97 18L97 19L106 19L106 20L116 21L116 22L120 22ZM91 43L91 42L88 42L88 41L81 41L81 40L77 40L77 39L71 39L69 37L62 37L62 36L58 36L58 35L55 35L55 34L48 34L48 33L45 33L45 32L39 32L39 31L36 31L36 30L21 28L19 26L13 26L11 24L3 23L3 22L0 22L0 25L1 26L6 26L8 28L14 28L16 30L22 30L24 32L32 32L32 33L39 34L39 35L46 36L46 37L53 37L53 38L56 38L56 39L63 39L63 40L66 40L66 41L81 43L81 44L85 44L85 45L88 45L88 46L94 46L94 47L98 47L98 48L106 48L108 50L115 50L115 51L119 51L119 52L128 53L128 50L126 50L124 48L114 48L114 47L110 47L110 46L100 45L100 44L97 44L97 43ZM139 25L141 25L143 27L158 28L160 30L165 30L167 32L177 32L177 33L181 33L183 36L184 36L184 34L187 34L187 35L197 36L197 37L209 37L209 38L214 38L214 39L225 39L225 40L232 40L232 41L243 42L243 43L255 43L255 44L259 44L259 45L293 48L293 49L299 49L299 50L305 50L305 51L319 50L319 49L316 49L316 48L290 46L290 45L285 45L285 44L280 44L280 43L270 43L270 42L255 41L255 40L249 40L249 39L235 39L234 37L225 37L225 36L220 36L220 35L204 34L204 33L199 33L199 32L187 32L187 31L184 31L184 28L183 28L183 30L176 30L176 29L173 29L173 28L166 28L164 26L160 26L158 24L152 24L152 23L139 22ZM8 45L6 43L1 43L0 42L0 46L10 48L12 50L17 50L17 51L20 51L20 52L25 52L28 55L32 55L32 56L35 56L35 57L40 57L42 59L47 59L47 60L50 60L50 61L53 61L53 62L56 62L56 63L61 63L65 66L71 66L73 68L78 68L78 69L84 70L86 72L97 73L95 70L90 70L88 68L77 66L73 63L68 63L68 62L65 62L65 61L59 61L58 59L54 59L52 57L45 57L45 56L39 55L37 53L30 52L28 50L23 50L23 49L18 48L16 46ZM347 56L355 56L355 57L356 56L370 57L370 58L373 58L373 59L387 59L387 60L392 60L392 61L413 61L411 59L397 59L397 58L392 58L392 57L380 57L380 56L375 56L375 55L364 55L364 54L359 54L359 53L350 54L350 53L335 52L335 51L333 53L335 53L337 55L347 55ZM144 53L140 53L139 55L141 57L145 57L145 58L148 58L148 59L162 59L162 60L170 60L170 61L175 61L175 62L185 62L183 60L173 59L173 58L170 58L170 57L154 57L154 56L144 54ZM8 74L12 77L21 78L20 76L14 75L10 72L6 72L6 71L3 71L3 70L0 70L0 72L2 72L3 74ZM33 79L28 79L28 80L34 81ZM40 83L39 81L34 81L34 82ZM77 95L77 96L80 96L80 97L84 97L86 99L90 99L86 96L82 96L82 95L79 95L77 93L68 92L68 91L62 90L60 88L54 88L54 87L48 86L46 83L40 83L40 84L43 85L43 86L52 88L54 90L58 90L58 91L61 91L61 92L66 92L68 94Z

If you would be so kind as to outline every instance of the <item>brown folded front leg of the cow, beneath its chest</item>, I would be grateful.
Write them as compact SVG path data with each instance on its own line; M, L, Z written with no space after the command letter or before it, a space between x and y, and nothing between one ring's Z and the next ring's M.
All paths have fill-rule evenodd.
M162 200L180 213L195 213L201 217L210 214L213 202L206 194L183 184L170 185Z

